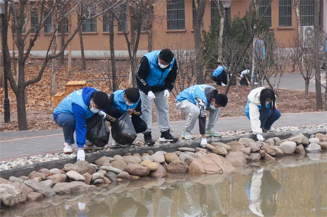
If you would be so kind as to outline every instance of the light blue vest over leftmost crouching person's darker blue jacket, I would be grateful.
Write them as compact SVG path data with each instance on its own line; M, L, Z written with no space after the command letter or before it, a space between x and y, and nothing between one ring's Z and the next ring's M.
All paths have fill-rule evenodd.
M60 104L53 110L54 114L57 113L69 113L69 114L73 114L73 103L81 106L84 110L85 110L85 119L90 118L93 113L91 112L91 110L89 109L89 107L87 105L85 105L84 101L83 101L83 97L82 97L82 91L81 90L77 90L75 92L72 92L71 94L67 95L67 97L65 97ZM99 90L98 90L99 91Z

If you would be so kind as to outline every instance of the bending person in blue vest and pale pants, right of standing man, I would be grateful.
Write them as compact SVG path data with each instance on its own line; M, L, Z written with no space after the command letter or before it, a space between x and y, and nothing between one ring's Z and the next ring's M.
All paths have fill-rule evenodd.
M225 94L218 93L215 87L206 84L194 85L180 92L176 97L176 106L189 114L181 138L194 139L191 131L198 118L200 134L202 135L200 143L202 148L205 148L207 143L206 137L221 136L214 130L214 127L219 117L220 107L225 107L227 102L228 99ZM206 111L209 112L209 123L205 130Z

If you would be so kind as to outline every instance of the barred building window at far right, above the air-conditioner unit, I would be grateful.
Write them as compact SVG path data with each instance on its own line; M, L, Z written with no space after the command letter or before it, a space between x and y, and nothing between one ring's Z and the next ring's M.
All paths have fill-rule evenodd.
M315 0L300 0L301 26L313 26L315 18Z

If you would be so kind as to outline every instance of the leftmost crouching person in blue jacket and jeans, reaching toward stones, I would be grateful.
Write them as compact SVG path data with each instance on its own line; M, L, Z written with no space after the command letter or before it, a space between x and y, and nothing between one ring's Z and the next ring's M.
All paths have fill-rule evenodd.
M63 130L65 139L63 152L65 154L73 153L72 144L75 143L74 131L76 130L77 161L85 160L86 119L95 113L105 116L104 112L100 110L105 109L107 103L107 93L95 88L84 87L67 95L53 110L53 118ZM89 149L89 147L87 148Z

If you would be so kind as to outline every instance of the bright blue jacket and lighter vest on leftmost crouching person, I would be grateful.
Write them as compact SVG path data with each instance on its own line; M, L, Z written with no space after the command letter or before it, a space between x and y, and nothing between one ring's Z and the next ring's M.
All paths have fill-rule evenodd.
M89 109L91 95L99 91L91 87L84 87L67 95L60 104L53 110L53 117L56 119L59 113L74 114L76 143L78 148L83 148L85 144L86 123L85 120L90 118L94 113Z

